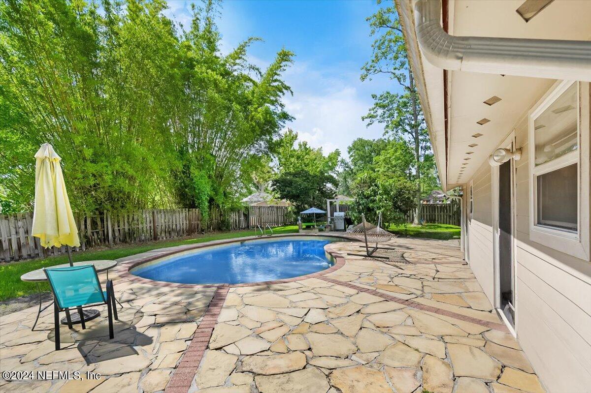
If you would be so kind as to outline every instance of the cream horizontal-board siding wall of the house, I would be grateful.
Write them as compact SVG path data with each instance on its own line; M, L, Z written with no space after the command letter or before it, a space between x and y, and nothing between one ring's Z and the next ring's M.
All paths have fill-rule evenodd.
M583 139L586 138L586 149L589 149L589 83L580 84L580 106L580 132L586 133ZM515 331L548 391L588 392L591 388L591 264L530 240L529 142L527 113L524 113L515 126L515 146L523 152L521 160L515 162L513 179ZM485 163L471 179L474 212L470 220L467 206L466 242L470 267L486 296L497 305L494 178L493 169ZM589 172L582 172L580 181L588 184ZM469 191L469 184L466 190Z

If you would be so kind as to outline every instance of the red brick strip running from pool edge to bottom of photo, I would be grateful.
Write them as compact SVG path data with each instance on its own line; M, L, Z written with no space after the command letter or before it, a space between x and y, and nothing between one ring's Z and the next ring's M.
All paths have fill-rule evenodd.
M173 370L173 376L166 385L165 393L187 393L189 391L197 369L199 369L203 353L212 338L213 327L216 325L217 317L222 311L229 290L227 284L217 287L189 346L181 356L180 363L178 363L176 370Z

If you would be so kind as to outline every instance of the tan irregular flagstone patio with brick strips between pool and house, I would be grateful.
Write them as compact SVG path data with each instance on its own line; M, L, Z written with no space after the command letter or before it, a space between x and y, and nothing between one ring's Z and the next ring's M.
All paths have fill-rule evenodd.
M35 307L0 318L1 371L100 378L0 379L0 391L544 391L457 241L388 247L400 251L381 251L392 261L332 243L336 270L256 286L166 287L110 274L123 305L113 340L99 317L86 330L62 326L56 352L51 309L35 332Z

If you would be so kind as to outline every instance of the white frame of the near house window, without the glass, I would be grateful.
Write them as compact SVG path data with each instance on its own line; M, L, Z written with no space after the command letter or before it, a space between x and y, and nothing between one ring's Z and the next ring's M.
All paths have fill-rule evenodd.
M577 88L577 150L536 166L534 120L573 84L576 84ZM587 97L582 94L583 90L587 91ZM589 173L589 166L585 161L585 157L589 161L589 137L585 136L584 127L589 127L589 114L585 116L582 108L585 107L583 101L586 101L587 110L589 109L588 92L589 86L586 85L586 89L582 89L580 82L558 81L528 114L530 240L585 260L589 260L589 181L588 178L587 181L584 180L584 173L587 173L587 176ZM577 231L538 224L538 176L573 164L577 164Z

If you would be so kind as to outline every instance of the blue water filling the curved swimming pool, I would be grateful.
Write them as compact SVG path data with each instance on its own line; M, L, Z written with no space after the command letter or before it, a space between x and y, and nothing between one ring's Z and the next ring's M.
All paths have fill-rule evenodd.
M186 251L140 265L132 274L183 284L241 284L288 279L332 266L324 245L338 238L288 237Z

